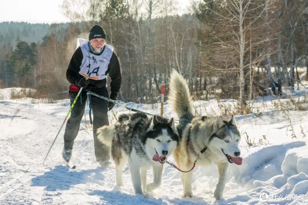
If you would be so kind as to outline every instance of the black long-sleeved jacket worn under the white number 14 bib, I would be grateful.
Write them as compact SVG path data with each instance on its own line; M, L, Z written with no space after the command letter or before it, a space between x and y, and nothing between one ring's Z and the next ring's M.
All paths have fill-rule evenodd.
M92 53L91 51L90 52L94 55L99 56L104 52L104 50L105 50L105 46L104 46L103 51L99 54ZM82 54L81 48L79 46L75 50L75 53L73 54L71 61L70 61L70 64L68 65L68 68L67 68L67 71L66 71L67 80L75 86L78 86L77 85L78 81L81 78L83 78L83 76L79 74L82 59L83 59L83 54ZM120 87L121 87L122 76L121 76L121 70L120 70L120 63L119 63L118 57L116 56L115 52L112 53L112 56L110 58L110 62L108 64L108 69L106 71L106 75L107 74L109 74L109 77L111 78L111 82L110 82L111 94L110 94L110 97L112 99L117 98L118 92L119 92ZM107 78L105 78L103 80L90 79L90 83L89 83L89 85L87 86L86 89L95 92L95 90L97 90L97 89L105 88L106 83L107 83Z

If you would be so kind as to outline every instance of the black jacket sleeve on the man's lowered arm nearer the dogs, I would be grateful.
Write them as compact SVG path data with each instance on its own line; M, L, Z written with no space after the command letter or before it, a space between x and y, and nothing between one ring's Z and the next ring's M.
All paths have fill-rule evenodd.
M118 92L120 91L121 82L122 82L122 75L120 69L119 59L116 56L115 52L112 53L110 58L110 63L108 65L107 72L109 77L111 78L110 82L110 98L117 99Z

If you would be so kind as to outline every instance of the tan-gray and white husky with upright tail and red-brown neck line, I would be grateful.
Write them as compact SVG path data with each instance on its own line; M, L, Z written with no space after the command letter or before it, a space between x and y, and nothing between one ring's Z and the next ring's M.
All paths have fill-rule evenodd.
M196 166L217 165L219 179L214 191L214 198L222 198L227 171L230 163L242 164L241 152L238 148L241 136L232 115L230 121L218 118L193 115L193 103L185 79L175 70L169 81L168 102L180 119L177 127L180 133L180 145L173 152L178 167L188 171L193 167L198 153L203 148L205 152L197 160ZM181 172L184 197L193 197L193 171Z

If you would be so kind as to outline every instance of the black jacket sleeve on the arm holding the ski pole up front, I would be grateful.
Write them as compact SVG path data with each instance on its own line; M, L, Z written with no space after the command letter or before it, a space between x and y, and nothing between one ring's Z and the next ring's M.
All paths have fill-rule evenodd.
M66 71L67 80L75 86L77 86L78 81L82 78L82 75L79 74L82 59L83 59L83 54L79 46L75 50L75 53L73 54L70 64L68 65Z

